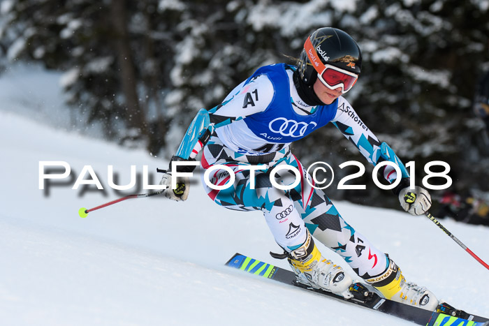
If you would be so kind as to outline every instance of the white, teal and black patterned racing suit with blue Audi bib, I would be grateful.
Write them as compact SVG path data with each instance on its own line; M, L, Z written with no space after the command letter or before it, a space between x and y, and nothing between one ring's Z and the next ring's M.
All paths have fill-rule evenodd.
M290 252L305 242L306 228L319 242L338 253L362 278L383 273L388 258L337 212L335 205L320 189L314 188L311 175L291 153L290 144L331 122L351 140L367 161L379 163L381 143L351 105L342 96L330 105L311 107L304 103L293 83L295 67L274 64L259 68L242 82L217 107L208 110L212 136L207 144L199 142L191 154L195 158L203 148L200 164L214 170L208 180L223 190L206 186L207 194L217 204L241 211L261 210L275 237ZM264 165L251 176L249 165ZM300 172L300 183L280 190L270 181L270 170L291 165ZM388 181L396 172L384 170ZM275 175L277 184L289 186L296 175L285 168ZM306 180L307 179L307 180ZM253 182L252 182L253 181Z

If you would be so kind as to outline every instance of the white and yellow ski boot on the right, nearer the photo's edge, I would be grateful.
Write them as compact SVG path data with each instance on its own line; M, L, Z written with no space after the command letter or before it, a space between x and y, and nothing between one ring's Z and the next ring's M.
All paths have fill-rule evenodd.
M389 266L386 272L365 281L377 288L387 299L435 311L439 304L437 297L427 288L407 282L401 269L395 265L393 260L388 259Z

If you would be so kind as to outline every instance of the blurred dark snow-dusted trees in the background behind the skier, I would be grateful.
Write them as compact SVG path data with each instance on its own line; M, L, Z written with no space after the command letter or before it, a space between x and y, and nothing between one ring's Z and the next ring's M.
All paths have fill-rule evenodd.
M259 66L293 63L319 27L344 29L363 50L346 97L365 124L420 177L441 160L460 188L487 187L483 124L470 110L489 68L487 0L3 0L0 9L6 56L66 71L68 101L88 124L103 121L110 138L155 154L175 151L196 111ZM360 160L335 128L295 151L304 163ZM378 193L372 184L365 200Z

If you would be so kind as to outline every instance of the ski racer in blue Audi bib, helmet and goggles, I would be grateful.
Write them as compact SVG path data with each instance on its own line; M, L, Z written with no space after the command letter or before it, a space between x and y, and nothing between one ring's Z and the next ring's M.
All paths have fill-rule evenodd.
M388 255L346 223L328 196L311 186L312 177L291 153L292 142L331 122L367 161L373 165L390 161L400 168L402 178L394 191L404 210L420 215L430 208L428 191L409 188L409 174L394 151L377 140L342 96L356 83L361 66L360 48L349 34L330 27L314 31L305 40L297 66L263 66L221 104L201 109L172 162L187 164L180 165L178 172L191 172L195 168L191 161L203 149L200 165L204 170L221 165L210 173L210 183L222 186L234 179L233 184L218 190L203 183L207 194L228 209L261 210L275 241L284 249L282 258L288 258L299 282L352 296L351 276L323 257L314 244L316 239L341 255L386 298L434 311L439 303L435 295L407 282ZM251 171L251 165L261 165L263 170ZM270 181L270 171L281 165L289 168L279 170L275 181L293 184L293 167L300 172L294 188L282 190ZM189 179L173 177L174 171L168 170L160 184L168 187L164 192L168 198L186 200ZM393 166L386 165L382 171L387 181L397 179ZM172 187L172 177L177 187Z

